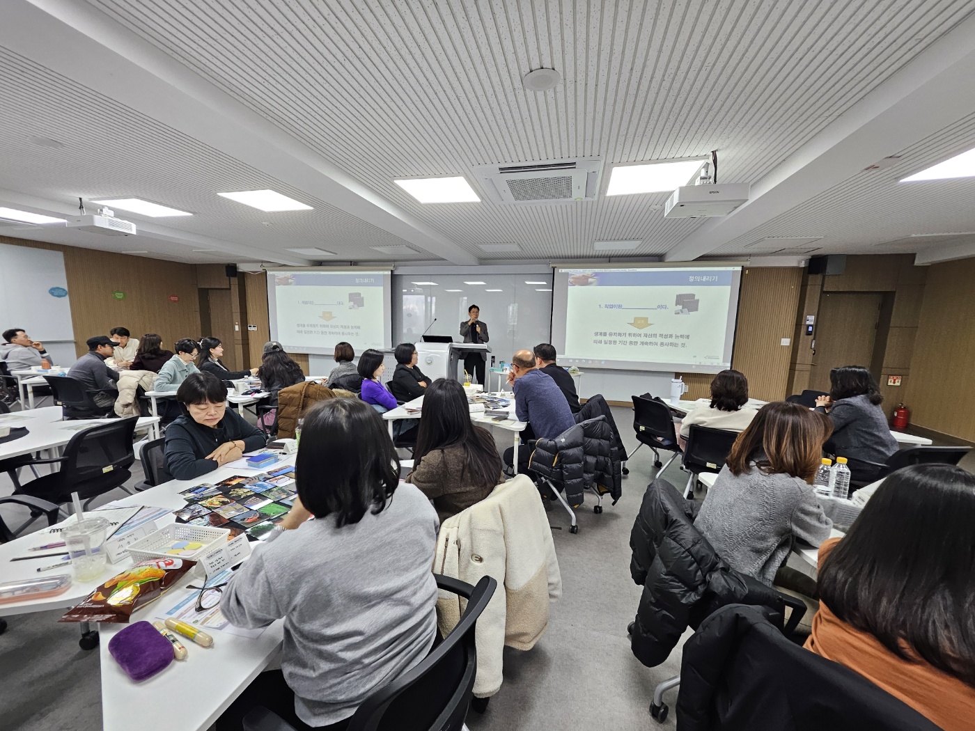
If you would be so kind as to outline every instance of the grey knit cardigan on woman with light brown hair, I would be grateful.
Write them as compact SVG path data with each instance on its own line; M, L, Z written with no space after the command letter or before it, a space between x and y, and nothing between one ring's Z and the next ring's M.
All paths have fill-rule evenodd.
M793 538L819 546L830 537L833 521L823 514L812 485L783 473L765 475L753 462L738 477L727 465L722 468L694 526L732 568L771 586Z

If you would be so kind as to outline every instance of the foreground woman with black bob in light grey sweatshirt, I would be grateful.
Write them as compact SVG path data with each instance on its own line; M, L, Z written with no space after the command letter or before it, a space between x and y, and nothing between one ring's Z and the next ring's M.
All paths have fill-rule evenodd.
M220 602L238 627L284 618L281 670L258 675L218 730L239 730L255 706L299 729L343 728L371 693L422 661L437 634L437 513L399 481L379 414L358 399L315 404L295 466L292 512Z

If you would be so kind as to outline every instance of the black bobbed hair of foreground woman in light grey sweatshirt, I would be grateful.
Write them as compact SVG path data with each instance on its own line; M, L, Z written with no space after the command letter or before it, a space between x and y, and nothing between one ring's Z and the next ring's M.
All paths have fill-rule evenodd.
M301 504L317 519L334 516L339 528L380 513L400 484L389 432L359 399L329 399L305 413L295 468Z

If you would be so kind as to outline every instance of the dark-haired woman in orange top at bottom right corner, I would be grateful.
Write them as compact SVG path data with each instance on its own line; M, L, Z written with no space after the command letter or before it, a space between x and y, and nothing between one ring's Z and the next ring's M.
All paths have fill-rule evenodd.
M845 538L819 550L805 646L860 673L946 731L975 724L975 477L898 470Z

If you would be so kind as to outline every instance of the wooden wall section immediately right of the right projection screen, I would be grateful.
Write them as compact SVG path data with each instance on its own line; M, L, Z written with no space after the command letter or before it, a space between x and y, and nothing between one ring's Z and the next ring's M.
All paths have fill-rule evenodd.
M749 267L741 280L738 324L731 366L748 378L749 394L762 401L788 396L792 338L800 301L802 270L797 267ZM688 385L685 399L711 395L713 375L683 373Z

